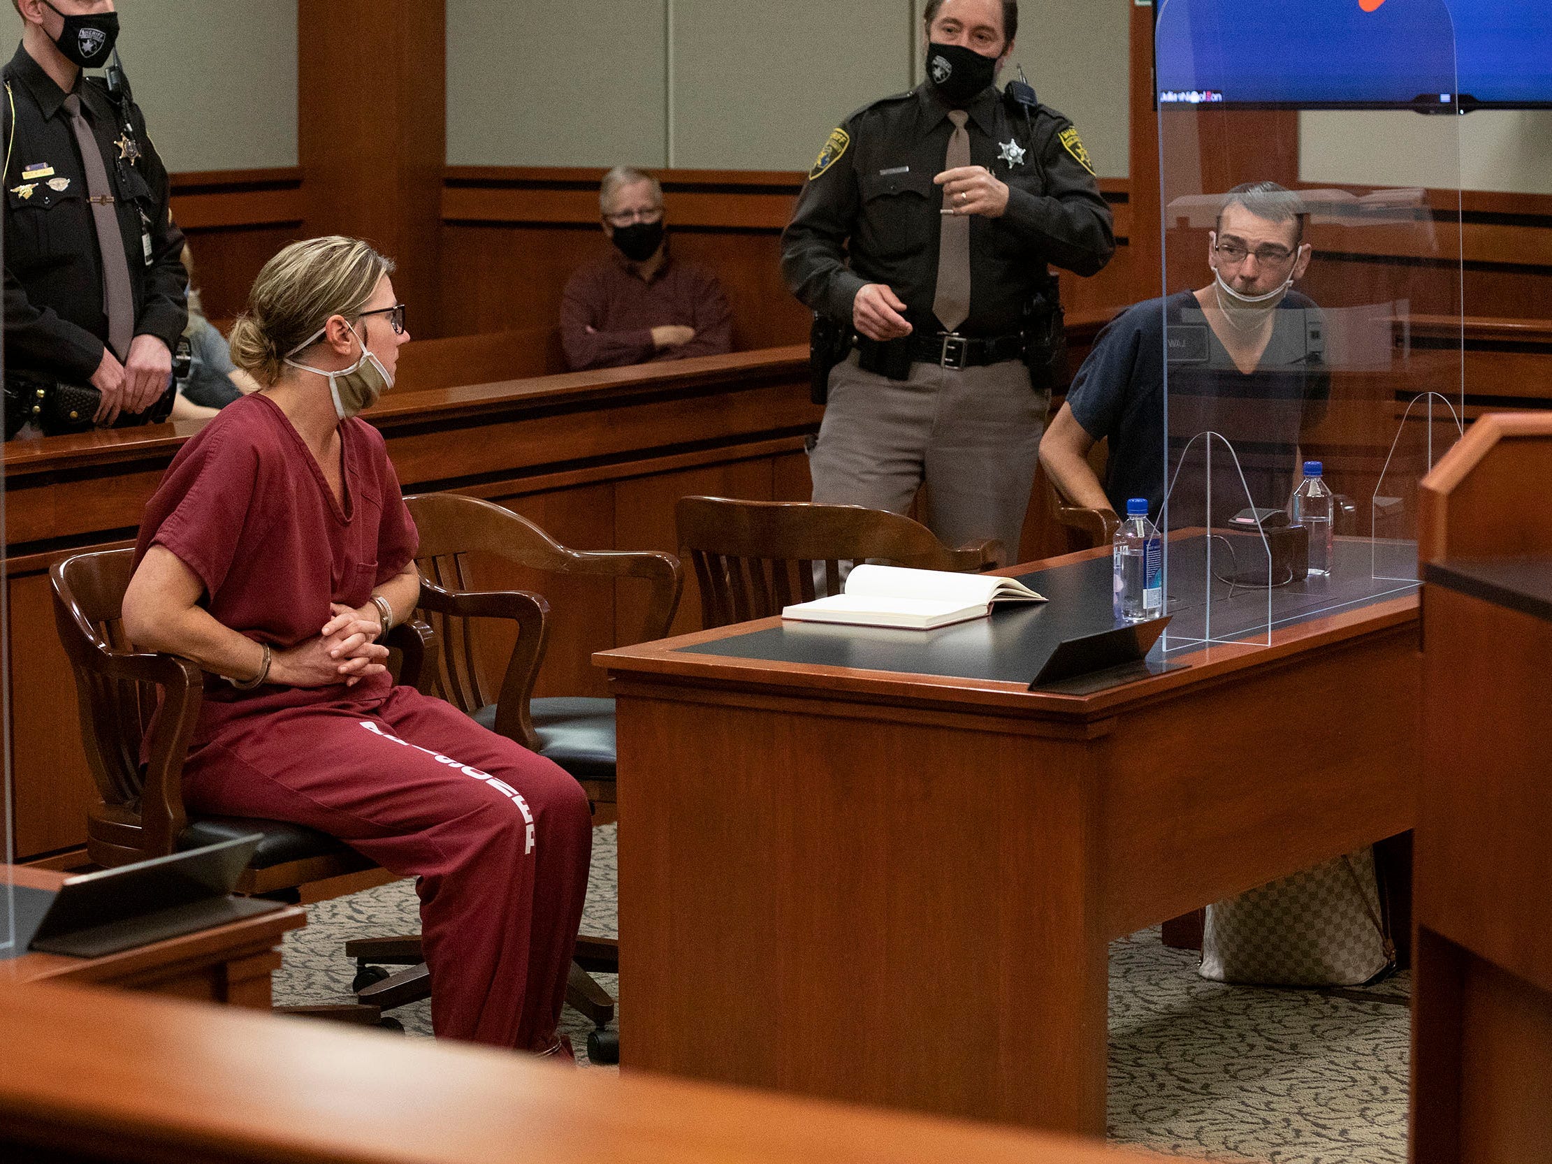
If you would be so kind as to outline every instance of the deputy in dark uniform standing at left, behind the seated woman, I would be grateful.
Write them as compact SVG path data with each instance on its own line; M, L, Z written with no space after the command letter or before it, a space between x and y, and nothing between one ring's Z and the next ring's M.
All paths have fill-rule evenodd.
M112 56L112 0L12 5L22 47L0 70L8 438L23 421L57 431L144 413L168 391L188 320L183 233L144 116L82 76ZM95 414L51 425L61 383L96 388Z

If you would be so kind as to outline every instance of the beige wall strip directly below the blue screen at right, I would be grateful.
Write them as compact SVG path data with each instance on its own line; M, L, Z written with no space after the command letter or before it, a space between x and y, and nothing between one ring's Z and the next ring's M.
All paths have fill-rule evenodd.
M1552 194L1552 112L1304 113L1301 177L1356 186Z

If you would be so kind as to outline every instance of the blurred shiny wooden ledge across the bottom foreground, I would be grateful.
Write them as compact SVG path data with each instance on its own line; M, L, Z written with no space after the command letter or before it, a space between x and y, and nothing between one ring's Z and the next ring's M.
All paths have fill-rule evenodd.
M1026 1131L579 1072L483 1048L81 989L0 992L0 1159L6 1161L65 1155L73 1164L1158 1159Z

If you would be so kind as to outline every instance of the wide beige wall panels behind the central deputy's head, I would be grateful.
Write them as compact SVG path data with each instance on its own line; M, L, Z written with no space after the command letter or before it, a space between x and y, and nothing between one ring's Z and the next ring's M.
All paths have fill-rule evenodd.
M447 0L447 160L807 169L841 118L911 87L920 11L922 0ZM1130 11L1131 0L1024 0L1013 56L1041 101L1077 123L1103 177L1127 174Z

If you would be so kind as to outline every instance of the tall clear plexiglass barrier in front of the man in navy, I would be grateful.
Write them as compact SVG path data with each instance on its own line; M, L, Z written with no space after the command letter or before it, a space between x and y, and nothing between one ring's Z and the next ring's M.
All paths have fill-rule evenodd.
M1164 404L1167 652L1412 591L1419 481L1462 433L1450 12L1297 8L1313 54L1282 51L1285 0L1158 11L1162 300L1136 368ZM1387 65L1311 84L1332 61Z

